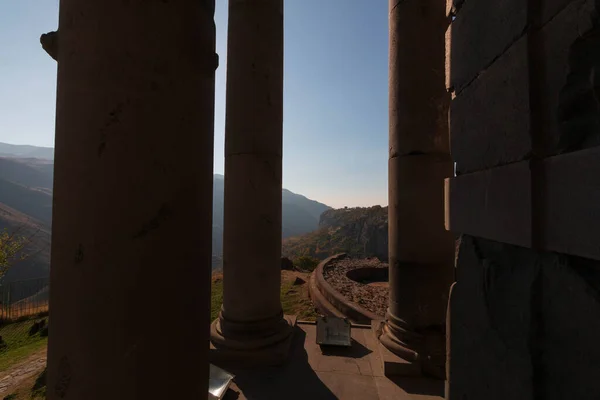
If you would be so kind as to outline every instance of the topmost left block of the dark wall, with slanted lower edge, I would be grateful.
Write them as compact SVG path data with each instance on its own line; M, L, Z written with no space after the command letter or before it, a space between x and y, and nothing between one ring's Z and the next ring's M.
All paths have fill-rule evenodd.
M462 90L521 37L526 26L526 1L466 1L452 22L451 86Z

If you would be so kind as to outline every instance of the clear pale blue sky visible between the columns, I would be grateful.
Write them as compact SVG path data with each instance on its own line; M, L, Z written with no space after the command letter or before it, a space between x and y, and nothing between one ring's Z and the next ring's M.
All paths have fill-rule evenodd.
M82 0L83 1L83 0ZM54 146L58 0L0 0L0 142ZM284 187L387 204L387 0L285 0ZM217 0L215 173L223 173L227 1Z

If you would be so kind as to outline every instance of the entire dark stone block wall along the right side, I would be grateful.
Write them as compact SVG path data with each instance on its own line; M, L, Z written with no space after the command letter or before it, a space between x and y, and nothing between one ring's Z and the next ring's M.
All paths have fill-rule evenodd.
M600 1L447 5L447 399L600 398Z

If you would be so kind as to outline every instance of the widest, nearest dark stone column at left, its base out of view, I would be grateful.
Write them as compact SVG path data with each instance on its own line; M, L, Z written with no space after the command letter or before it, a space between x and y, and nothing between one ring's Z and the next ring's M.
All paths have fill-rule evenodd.
M206 398L214 0L61 0L48 399Z

